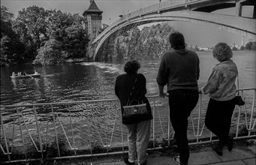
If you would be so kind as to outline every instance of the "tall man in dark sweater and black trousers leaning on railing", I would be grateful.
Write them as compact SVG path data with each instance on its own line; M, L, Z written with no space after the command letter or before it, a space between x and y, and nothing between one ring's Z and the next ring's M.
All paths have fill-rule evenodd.
M188 164L189 148L187 138L188 116L197 105L199 98L197 80L199 79L199 58L193 50L185 49L183 34L174 32L169 37L170 52L165 52L156 78L159 95L169 93L170 121L175 131L174 137L179 156L173 157L177 164Z

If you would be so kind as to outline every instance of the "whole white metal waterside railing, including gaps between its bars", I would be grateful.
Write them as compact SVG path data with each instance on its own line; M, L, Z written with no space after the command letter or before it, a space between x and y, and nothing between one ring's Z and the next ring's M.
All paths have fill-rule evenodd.
M236 106L230 133L234 139L255 137L256 89L239 91L245 106ZM174 131L168 101L158 96L148 98L153 115L149 150L161 148L159 143L170 146ZM191 113L190 145L217 140L204 124L208 101L200 95ZM127 130L121 116L118 99L1 106L0 163L127 152Z

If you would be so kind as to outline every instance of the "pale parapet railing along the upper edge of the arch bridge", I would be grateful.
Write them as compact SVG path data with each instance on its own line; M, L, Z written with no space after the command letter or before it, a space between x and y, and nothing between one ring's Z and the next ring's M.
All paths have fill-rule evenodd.
M170 0L170 1L162 1L158 4L151 5L151 6L148 6L148 7L142 7L139 10L135 10L131 13L128 13L128 14L122 16L121 18L119 18L119 20L116 20L114 23L112 23L110 26L108 26L104 31L110 31L115 26L118 26L119 23L122 23L124 21L128 21L131 18L140 17L140 16L143 16L143 14L146 14L146 13L154 13L154 12L158 12L158 11L170 8L170 7L176 7L178 5L185 5L185 4L191 3L191 1L198 1L198 0L189 0L189 1L186 1L186 0ZM105 34L104 31L101 34L99 34L98 37L95 38L95 40L92 41L92 44L94 44L98 40L100 40L101 37L104 37L104 34Z

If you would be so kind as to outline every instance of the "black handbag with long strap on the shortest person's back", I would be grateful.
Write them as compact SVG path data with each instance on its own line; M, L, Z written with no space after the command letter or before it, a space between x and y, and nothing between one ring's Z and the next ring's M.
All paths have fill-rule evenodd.
M134 86L135 86L136 82L137 82L137 77L136 77ZM136 99L130 101L132 92L134 90L134 86L131 89L131 94L128 98L126 106L123 107L124 112L122 115L124 118L131 118L133 115L143 115L148 112L148 110L146 108L146 104L144 104L143 102L140 103L140 101L138 101Z

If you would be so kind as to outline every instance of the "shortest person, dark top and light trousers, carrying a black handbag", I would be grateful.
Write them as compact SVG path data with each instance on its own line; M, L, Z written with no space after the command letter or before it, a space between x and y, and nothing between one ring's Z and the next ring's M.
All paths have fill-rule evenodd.
M138 74L140 63L133 60L125 64L126 74L116 77L115 93L119 98L122 110L122 124L128 129L128 157L124 157L125 163L134 165L136 160L139 165L146 165L146 151L149 144L150 124L152 120L151 107L146 95L146 78ZM146 113L135 114L126 117L124 106L133 100L146 103Z

